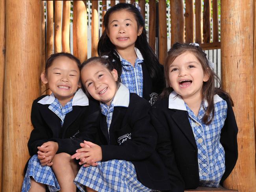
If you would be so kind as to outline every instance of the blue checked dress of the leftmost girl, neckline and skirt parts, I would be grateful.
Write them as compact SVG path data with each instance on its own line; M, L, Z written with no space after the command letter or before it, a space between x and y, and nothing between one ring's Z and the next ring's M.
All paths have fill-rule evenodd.
M58 99L55 98L54 102L48 107L60 118L61 126L63 125L65 115L72 111L72 100L73 99L62 107ZM33 177L37 183L47 185L50 192L60 190L59 183L52 171L52 168L50 166L41 166L39 159L37 159L37 155L33 155L28 162L28 168L22 183L22 192L28 192L30 190L31 177Z

